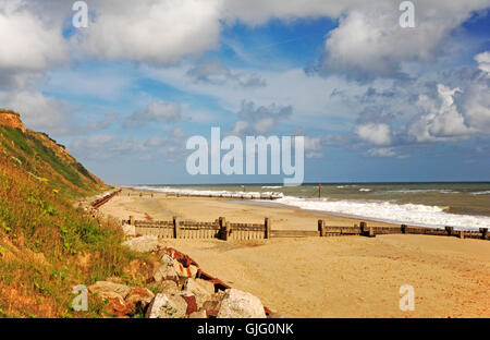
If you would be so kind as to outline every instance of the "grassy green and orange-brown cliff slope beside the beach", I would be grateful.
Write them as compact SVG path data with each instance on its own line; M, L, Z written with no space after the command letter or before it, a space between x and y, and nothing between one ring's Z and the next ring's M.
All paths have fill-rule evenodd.
M0 317L100 316L98 300L88 312L71 309L73 287L113 276L140 283L126 268L145 262L121 246L118 221L71 202L107 186L46 135L0 134Z

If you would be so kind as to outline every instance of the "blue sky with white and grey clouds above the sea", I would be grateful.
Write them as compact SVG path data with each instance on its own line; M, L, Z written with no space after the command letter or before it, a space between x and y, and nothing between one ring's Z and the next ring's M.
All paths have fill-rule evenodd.
M0 0L0 107L112 184L186 141L305 136L305 182L490 181L490 0Z

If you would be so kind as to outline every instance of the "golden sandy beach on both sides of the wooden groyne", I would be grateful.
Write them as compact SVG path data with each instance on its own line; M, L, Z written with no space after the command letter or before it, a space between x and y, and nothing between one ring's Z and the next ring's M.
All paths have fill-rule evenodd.
M131 196L127 194L131 193ZM316 230L317 220L359 220L218 198L152 196L124 190L100 211L119 219L236 222L271 219L272 229ZM385 223L372 222L376 226ZM257 295L289 317L490 317L490 242L429 235L257 241L164 240L210 275ZM415 311L399 307L415 289Z

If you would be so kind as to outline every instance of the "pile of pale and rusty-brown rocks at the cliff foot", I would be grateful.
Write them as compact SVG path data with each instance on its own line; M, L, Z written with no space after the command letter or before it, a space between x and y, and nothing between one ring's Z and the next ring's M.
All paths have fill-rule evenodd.
M258 298L209 279L192 258L173 248L162 248L158 240L136 238L124 244L137 252L158 254L160 260L151 278L157 294L146 288L130 288L119 279L98 281L88 290L108 302L108 314L144 314L148 318L267 317Z

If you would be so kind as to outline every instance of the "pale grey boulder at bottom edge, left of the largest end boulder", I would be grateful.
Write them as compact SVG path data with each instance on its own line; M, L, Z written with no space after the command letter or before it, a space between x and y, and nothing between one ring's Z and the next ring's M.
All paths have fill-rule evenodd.
M177 294L157 294L148 306L147 318L184 318L187 304Z

